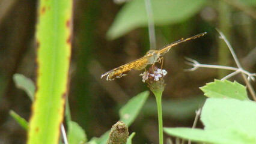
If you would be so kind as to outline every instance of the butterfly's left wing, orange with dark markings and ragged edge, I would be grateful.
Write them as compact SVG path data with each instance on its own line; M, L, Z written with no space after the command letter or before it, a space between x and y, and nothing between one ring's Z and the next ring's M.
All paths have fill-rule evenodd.
M113 70L102 74L102 77L108 75L106 78L107 80L114 80L115 78L126 76L130 70L142 70L143 68L147 67L149 57L150 55L144 56L136 59L135 61L129 62L128 64L121 65L120 67L114 68Z

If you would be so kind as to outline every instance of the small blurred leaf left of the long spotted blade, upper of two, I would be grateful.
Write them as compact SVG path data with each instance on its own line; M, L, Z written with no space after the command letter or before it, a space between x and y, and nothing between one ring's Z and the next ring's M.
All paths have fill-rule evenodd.
M23 76L22 74L14 74L13 80L17 88L22 89L28 94L28 97L33 101L35 94L35 85L31 79Z

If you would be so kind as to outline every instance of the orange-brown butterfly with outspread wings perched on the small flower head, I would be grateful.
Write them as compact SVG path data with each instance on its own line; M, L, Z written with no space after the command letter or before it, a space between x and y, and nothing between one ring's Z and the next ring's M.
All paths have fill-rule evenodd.
M154 64L155 62L160 61L160 56L163 56L165 53L169 52L171 47L176 46L177 44L183 43L185 41L189 41L195 38L199 38L206 34L206 32L195 35L190 38L183 39L181 38L174 43L168 44L162 49L159 50L149 50L142 58L136 59L135 61L129 62L128 64L121 65L120 67L114 68L104 74L102 74L101 78L108 75L106 80L114 80L115 78L120 78L122 76L126 76L130 70L142 70L143 68L147 67L147 65Z

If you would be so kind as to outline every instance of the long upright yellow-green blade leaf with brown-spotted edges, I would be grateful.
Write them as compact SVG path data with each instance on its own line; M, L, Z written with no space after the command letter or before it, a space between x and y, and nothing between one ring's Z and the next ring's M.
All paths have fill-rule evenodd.
M67 95L72 38L72 0L39 1L37 91L28 143L58 143Z

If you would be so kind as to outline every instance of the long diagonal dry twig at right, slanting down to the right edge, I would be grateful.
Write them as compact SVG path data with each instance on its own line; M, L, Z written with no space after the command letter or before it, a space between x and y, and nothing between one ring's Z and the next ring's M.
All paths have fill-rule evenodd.
M219 32L219 34L221 35L222 39L225 41L225 43L227 44L228 46L228 49L230 49L230 52L234 58L234 61L236 62L237 64L237 67L240 68L240 70L243 70L243 68L241 67L240 65L240 62L238 61L238 58L236 56L236 53L234 52L234 49L233 47L231 46L230 42L227 40L227 38L225 37L225 35L219 30L217 29L217 31ZM251 83L249 83L248 79L246 79L246 76L244 73L241 73L242 74L242 77L243 77L243 80L245 80L245 83L246 85L248 86L248 89L249 89L249 92L251 93L252 95L252 98L254 99L254 101L256 101L256 94L255 94L255 91L254 89L252 88L252 85Z

